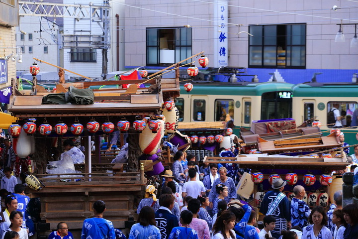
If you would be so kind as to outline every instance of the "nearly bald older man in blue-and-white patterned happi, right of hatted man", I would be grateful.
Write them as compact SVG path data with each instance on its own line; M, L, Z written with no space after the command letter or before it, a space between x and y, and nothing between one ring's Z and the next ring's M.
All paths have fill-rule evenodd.
M307 203L302 199L306 192L304 187L297 185L293 188L295 197L291 200L291 223L292 227L298 226L301 229L307 226L308 217L311 213Z

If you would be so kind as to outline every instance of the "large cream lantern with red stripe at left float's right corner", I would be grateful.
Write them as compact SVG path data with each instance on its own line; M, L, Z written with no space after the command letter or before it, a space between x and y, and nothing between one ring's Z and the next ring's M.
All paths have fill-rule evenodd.
M164 136L164 121L160 120L160 126L156 133L147 125L139 135L139 146L144 154L153 155L158 151L162 137Z

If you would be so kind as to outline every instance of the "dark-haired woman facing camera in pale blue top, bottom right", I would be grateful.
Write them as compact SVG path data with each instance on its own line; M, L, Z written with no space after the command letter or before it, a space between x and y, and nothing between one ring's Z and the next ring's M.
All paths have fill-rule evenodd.
M332 239L331 230L326 228L327 215L324 208L316 206L312 209L308 222L311 224L303 228L302 238Z

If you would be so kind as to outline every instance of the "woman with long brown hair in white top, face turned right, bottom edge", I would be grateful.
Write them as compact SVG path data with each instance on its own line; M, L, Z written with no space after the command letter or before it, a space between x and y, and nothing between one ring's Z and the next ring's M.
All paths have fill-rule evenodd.
M232 230L235 226L235 215L230 211L224 211L216 219L213 226L212 239L236 239L235 232Z

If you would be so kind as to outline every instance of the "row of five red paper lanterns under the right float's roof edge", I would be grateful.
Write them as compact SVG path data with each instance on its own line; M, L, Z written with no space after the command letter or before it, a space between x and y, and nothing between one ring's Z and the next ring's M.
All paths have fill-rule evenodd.
M269 184L272 185L272 181L275 178L280 178L280 176L278 174L271 174L269 175ZM251 179L254 183L262 183L264 181L264 174L261 172L253 172L251 174ZM287 173L286 174L286 182L288 185L295 185L298 181L298 176L296 173ZM311 174L311 173L307 173L303 176L303 182L305 185L307 186L312 186L315 182L316 182L316 176ZM328 186L331 185L332 183L332 177L328 174L322 174L319 177L319 182L323 185L323 186Z

